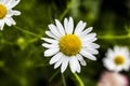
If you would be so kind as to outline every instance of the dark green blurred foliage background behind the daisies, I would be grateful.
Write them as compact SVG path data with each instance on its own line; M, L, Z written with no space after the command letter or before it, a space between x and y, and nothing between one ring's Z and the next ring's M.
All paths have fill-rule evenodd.
M0 86L63 86L60 68L54 70L49 64L50 58L43 57L40 40L55 18L63 23L64 17L72 16L75 26L79 20L87 22L87 27L92 26L98 33L96 43L101 45L98 61L86 59L88 66L81 67L79 74L86 86L96 86L106 70L102 58L107 48L115 45L130 48L130 38L101 39L130 34L130 0L22 0L14 10L22 12L14 18L23 30L5 26L0 31ZM129 72L122 73L130 76ZM78 86L69 68L64 75L67 86Z

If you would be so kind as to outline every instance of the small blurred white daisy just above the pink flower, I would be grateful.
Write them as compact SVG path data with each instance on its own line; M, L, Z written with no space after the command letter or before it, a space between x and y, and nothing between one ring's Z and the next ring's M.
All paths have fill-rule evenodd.
M114 51L108 49L106 58L103 59L104 66L115 72L128 71L130 66L130 55L127 47L115 46Z

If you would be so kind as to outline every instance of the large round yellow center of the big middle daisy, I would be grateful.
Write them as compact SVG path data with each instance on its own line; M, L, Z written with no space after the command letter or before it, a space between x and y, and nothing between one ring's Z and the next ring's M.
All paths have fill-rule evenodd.
M79 53L81 48L81 41L75 34L66 34L60 39L60 49L67 56L73 56Z

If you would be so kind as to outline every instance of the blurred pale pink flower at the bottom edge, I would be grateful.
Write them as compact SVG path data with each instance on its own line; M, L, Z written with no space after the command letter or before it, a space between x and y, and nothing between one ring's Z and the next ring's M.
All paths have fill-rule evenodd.
M102 74L98 86L129 86L128 77L117 72Z

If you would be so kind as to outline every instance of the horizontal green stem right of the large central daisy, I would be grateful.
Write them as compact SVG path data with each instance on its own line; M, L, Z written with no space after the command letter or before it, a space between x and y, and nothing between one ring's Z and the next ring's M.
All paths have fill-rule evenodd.
M98 37L101 40L120 40L120 39L130 39L130 34L127 35L100 35Z

